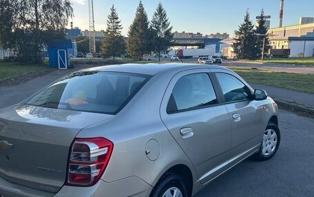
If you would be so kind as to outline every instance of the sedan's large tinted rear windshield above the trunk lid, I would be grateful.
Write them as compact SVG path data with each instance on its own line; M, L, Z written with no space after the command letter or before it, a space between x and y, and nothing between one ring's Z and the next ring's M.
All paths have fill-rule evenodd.
M83 71L45 87L23 104L115 115L151 76L135 73Z

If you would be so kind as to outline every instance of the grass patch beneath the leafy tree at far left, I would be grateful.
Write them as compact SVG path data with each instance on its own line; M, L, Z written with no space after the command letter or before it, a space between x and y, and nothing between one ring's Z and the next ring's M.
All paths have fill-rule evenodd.
M22 73L32 73L34 71L48 71L48 65L28 65L19 62L0 62L0 80Z

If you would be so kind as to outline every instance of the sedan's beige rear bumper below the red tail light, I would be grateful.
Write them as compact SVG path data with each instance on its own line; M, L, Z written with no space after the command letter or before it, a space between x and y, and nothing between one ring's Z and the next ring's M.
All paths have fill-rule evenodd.
M39 189L32 189L30 187L24 187L14 183L10 183L0 177L0 196L4 197L25 197L25 196L114 196L114 197L146 197L149 196L151 185L145 183L136 176L129 178L123 178L119 181L114 181L107 183L103 180L98 181L96 185L92 187L73 187L73 186L63 186L58 193L44 192Z

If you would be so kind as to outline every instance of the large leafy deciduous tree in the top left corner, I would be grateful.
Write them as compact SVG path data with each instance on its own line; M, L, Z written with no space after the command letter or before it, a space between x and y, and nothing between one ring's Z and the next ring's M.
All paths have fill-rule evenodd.
M1 0L2 42L22 60L41 62L41 49L50 39L64 38L72 16L70 0Z

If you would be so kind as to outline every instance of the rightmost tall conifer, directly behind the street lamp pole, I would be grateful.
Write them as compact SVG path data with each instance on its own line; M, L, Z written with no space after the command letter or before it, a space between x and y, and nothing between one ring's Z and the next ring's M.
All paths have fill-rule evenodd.
M256 29L254 30L255 34L267 34L267 27L265 26L266 19L264 17L264 10L260 12L260 16L256 23ZM257 36L255 38L255 53L258 57L262 56L262 47L263 47L263 40L265 39L264 43L264 55L267 53L269 46L269 37L268 36Z

